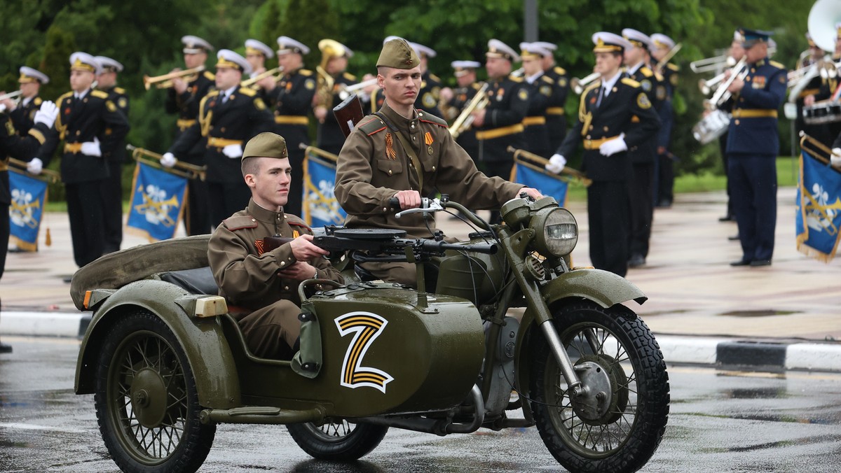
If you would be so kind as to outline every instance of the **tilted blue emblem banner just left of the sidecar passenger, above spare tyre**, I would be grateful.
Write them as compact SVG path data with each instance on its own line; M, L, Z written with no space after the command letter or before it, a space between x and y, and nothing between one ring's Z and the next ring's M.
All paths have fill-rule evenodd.
M125 226L150 242L171 239L182 218L186 200L186 177L138 161Z

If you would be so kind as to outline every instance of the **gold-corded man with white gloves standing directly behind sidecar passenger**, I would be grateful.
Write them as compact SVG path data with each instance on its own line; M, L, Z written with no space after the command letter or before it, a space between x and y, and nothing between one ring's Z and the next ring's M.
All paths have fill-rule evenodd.
M198 122L184 130L161 157L161 165L175 166L178 156L189 153L197 143L206 143L205 181L214 226L248 204L251 191L240 172L242 146L252 136L270 131L274 124L257 91L241 87L242 76L251 72L246 58L231 50L220 50L216 57L216 89L202 99Z

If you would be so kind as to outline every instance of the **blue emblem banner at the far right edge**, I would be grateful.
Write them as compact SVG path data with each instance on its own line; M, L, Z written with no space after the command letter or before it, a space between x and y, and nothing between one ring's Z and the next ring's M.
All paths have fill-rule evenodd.
M806 150L800 156L796 206L797 250L829 262L841 234L841 173Z

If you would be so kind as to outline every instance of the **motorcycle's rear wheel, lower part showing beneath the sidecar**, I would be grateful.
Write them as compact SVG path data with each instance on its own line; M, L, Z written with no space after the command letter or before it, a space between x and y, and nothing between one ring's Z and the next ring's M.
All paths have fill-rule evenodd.
M294 423L287 426L295 443L319 460L359 460L383 441L388 427L369 423Z

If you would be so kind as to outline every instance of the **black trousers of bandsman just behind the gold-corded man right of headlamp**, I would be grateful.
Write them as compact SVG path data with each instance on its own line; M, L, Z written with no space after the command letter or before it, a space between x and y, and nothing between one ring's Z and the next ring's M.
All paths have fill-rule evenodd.
M648 256L651 224L654 217L654 163L633 163L628 181L631 229L628 241L631 255Z

